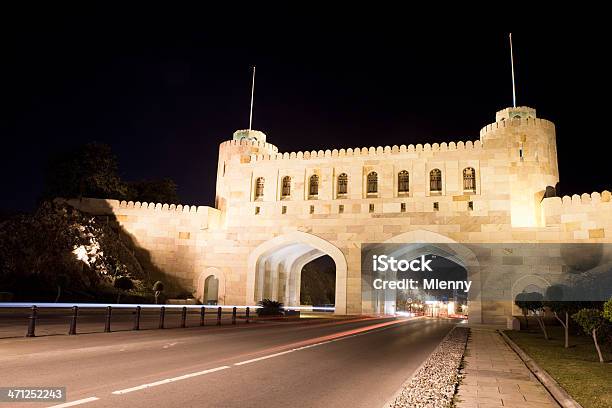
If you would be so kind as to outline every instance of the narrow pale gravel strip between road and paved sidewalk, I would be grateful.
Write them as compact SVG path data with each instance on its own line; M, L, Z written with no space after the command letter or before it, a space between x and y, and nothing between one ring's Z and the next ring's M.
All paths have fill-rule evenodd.
M389 407L452 407L460 380L459 366L469 331L467 327L455 327L421 368L402 386L401 393Z

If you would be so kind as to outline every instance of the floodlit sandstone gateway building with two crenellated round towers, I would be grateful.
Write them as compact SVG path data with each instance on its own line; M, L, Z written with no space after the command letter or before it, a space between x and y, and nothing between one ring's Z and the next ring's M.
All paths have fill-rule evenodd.
M336 313L393 312L394 298L373 293L361 272L362 245L388 242L409 244L415 257L451 253L476 288L470 319L498 322L513 313L516 293L568 269L544 254L513 255L513 244L612 242L610 192L561 198L558 182L554 124L517 107L468 142L281 153L264 133L237 131L219 147L215 208L70 203L114 214L158 269L203 302L299 305L303 267L328 255ZM468 245L476 243L508 248L476 253ZM506 266L486 283L498 299L485 302L488 270Z

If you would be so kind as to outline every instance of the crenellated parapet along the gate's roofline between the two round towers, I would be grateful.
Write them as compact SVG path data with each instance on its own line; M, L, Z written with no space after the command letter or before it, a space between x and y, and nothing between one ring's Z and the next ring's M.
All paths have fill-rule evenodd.
M299 152L285 152L276 154L252 154L251 162L264 160L316 160L326 158L344 158L344 157L366 157L366 156L388 156L404 153L422 153L422 152L447 152L447 151L473 151L482 150L483 146L480 140L476 141L459 141L459 142L443 142L443 143L425 143L425 144L410 144L410 145L393 145L393 146L371 146L371 147L355 147L348 149L327 149L327 150L312 150Z

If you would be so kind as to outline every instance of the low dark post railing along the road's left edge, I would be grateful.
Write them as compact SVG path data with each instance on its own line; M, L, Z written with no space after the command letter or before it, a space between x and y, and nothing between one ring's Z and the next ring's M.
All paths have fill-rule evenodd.
M205 325L206 309L216 311L216 325L221 326L223 309L231 309L231 324L237 324L238 309L245 311L245 323L250 321L251 309L259 309L261 306L235 306L235 305L155 305L155 304L112 304L107 303L27 303L27 302L12 302L0 303L0 309L30 309L28 317L28 331L26 337L36 336L36 320L38 319L38 309L72 309L70 319L69 335L77 334L77 323L80 309L105 309L106 317L104 320L104 332L111 332L111 320L113 309L134 309L134 321L132 330L140 330L140 318L142 309L159 309L158 329L165 328L165 317L167 309L180 309L181 311L181 328L187 327L187 311L188 309L198 309L200 311L200 326ZM291 306L285 307L284 310L308 310L308 311L334 311L334 307L318 307L318 306Z

